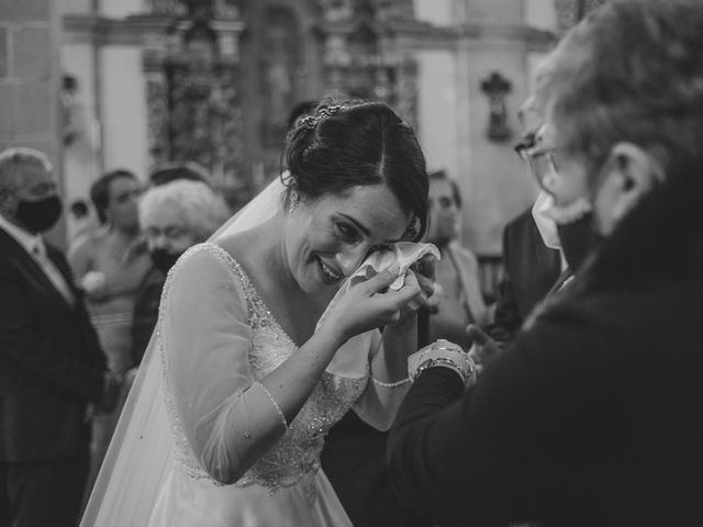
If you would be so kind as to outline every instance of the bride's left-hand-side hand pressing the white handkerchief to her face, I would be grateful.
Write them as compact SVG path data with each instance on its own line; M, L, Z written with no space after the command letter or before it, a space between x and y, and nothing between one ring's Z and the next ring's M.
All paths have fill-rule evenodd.
M401 311L422 303L423 291L414 273L409 273L398 291L388 289L398 278L393 264L373 278L353 285L336 302L323 321L322 328L339 332L344 341L360 333L397 323Z

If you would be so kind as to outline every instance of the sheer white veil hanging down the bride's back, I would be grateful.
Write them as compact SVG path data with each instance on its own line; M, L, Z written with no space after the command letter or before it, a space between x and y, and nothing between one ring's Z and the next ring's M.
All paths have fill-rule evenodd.
M248 231L275 216L282 210L283 191L282 179L276 178L210 240ZM148 524L172 463L164 390L157 326L127 395L81 527Z

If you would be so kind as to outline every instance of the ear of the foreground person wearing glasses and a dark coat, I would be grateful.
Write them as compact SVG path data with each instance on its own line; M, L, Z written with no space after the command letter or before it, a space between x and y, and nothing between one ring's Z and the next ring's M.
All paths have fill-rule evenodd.
M606 173L594 205L598 231L609 235L663 179L663 170L651 154L632 143L617 143L605 166Z

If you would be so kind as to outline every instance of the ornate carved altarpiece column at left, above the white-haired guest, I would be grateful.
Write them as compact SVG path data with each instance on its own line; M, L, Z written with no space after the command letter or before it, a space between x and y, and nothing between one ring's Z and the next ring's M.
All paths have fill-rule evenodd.
M235 2L152 0L142 25L153 164L197 161L236 209L248 195Z

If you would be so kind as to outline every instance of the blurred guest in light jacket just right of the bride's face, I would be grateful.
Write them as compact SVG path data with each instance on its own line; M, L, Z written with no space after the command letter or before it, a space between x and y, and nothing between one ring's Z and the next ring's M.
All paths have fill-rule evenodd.
M469 346L469 324L484 326L483 301L476 255L459 243L461 194L444 170L429 173L429 228L425 242L439 248L435 265L435 294L429 310L428 340L446 338Z

